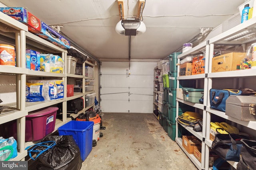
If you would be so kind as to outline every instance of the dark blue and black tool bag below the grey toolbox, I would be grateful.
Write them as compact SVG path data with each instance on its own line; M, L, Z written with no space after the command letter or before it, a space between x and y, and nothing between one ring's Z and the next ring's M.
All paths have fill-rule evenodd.
M212 142L212 150L224 160L239 161L241 139L248 139L247 136L230 134L216 134Z

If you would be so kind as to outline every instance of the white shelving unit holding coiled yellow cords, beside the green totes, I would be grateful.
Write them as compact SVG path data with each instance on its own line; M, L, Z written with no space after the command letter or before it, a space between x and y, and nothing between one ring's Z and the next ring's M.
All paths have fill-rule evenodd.
M208 79L207 79L207 72L208 72L208 59L209 59L209 44L208 41L204 41L202 43L200 43L199 45L197 45L196 47L193 47L192 49L190 49L189 51L186 51L185 53L182 53L180 55L178 55L178 63L180 63L181 59L186 58L188 55L198 55L198 54L202 54L204 53L204 58L205 58L205 68L204 74L197 74L197 75L190 75L190 76L179 76L179 66L178 66L178 75L177 75L177 87L179 87L180 81L182 80L196 80L196 88L198 88L198 81L203 81L204 84L204 99L207 98L207 92L206 90L208 89ZM196 132L194 131L191 127L187 127L184 126L182 124L180 124L177 121L177 117L178 117L178 106L179 103L184 103L188 106L192 106L195 107L197 109L202 110L202 118L203 118L203 128L202 128L202 132ZM195 166L198 169L204 169L205 168L205 148L206 148L206 144L205 144L205 138L206 138L206 100L204 100L203 104L198 104L198 103L191 103L191 102L187 102L184 100L181 100L179 98L176 98L176 139L175 141L177 142L177 144L181 147L181 149L187 154L187 156L190 158L190 160L195 164ZM178 127L182 126L184 127L184 129L186 129L187 131L189 131L190 133L192 133L194 136L196 136L202 143L202 157L201 157L201 162L199 162L196 157L193 154L188 154L188 152L184 149L184 147L182 147L182 138L178 137Z

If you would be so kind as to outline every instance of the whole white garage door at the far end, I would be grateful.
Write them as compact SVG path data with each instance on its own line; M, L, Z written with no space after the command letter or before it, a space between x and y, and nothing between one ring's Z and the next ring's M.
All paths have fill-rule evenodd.
M100 107L102 112L152 113L156 62L102 62Z

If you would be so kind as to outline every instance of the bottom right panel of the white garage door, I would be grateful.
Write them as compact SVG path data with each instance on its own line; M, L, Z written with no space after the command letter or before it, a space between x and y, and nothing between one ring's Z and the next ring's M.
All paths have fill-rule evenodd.
M130 113L152 113L152 100L151 101L130 101Z

